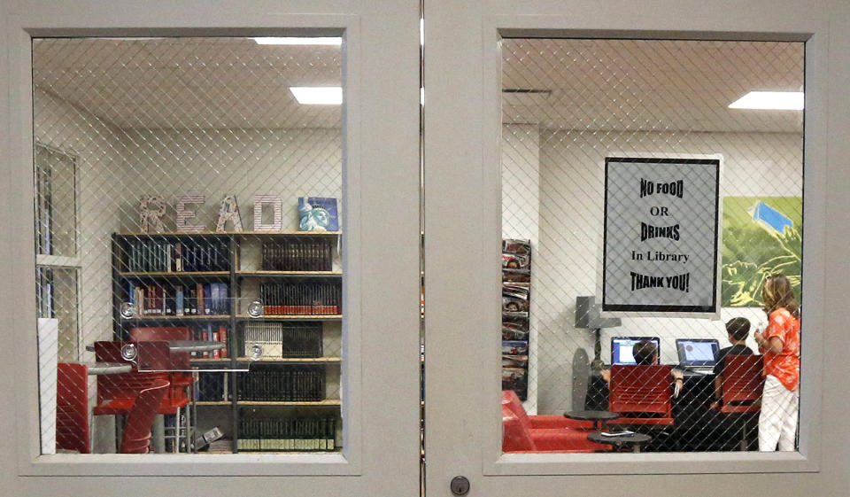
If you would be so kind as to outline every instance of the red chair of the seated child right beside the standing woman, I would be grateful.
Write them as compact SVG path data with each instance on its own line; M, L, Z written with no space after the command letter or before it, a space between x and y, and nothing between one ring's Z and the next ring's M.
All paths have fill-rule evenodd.
M761 412L764 367L761 355L727 355L723 360L720 412L740 423L742 451L750 445L749 425Z

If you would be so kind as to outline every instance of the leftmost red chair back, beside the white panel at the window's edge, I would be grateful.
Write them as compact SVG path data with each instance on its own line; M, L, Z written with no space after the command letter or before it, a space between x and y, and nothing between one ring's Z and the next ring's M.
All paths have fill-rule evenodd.
M85 364L57 365L56 448L91 454L89 367Z

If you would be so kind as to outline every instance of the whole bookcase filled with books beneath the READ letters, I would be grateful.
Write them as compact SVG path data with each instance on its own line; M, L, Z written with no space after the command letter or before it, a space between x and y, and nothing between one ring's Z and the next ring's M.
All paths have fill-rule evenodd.
M188 327L193 339L226 343L222 356L191 357L189 363L198 370L198 430L212 427L202 423L205 417L213 425L225 423L221 428L232 439L233 452L254 450L255 443L240 441L241 431L254 417L274 415L307 424L313 418L333 419L341 433L340 235L338 231L115 233L115 339L128 339L135 326L180 326ZM262 315L248 314L254 301L261 302ZM133 310L129 318L128 306ZM208 334L202 335L205 331ZM250 356L256 344L263 349L259 358ZM266 383L250 379L259 377L266 377ZM256 436L252 432L251 437ZM327 450L341 448L330 445L335 448Z

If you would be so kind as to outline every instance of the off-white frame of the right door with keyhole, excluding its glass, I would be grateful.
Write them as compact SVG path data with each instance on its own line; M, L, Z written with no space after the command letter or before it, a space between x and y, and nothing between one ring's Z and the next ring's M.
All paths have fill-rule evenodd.
M795 474L783 475L783 484L799 478L801 473L811 475L800 478L800 482L807 483L820 478L834 482L846 478L837 473L820 476L826 450L822 427L834 424L822 420L841 419L834 405L823 405L822 393L827 390L823 375L818 374L836 366L830 364L823 347L829 338L838 338L830 327L826 302L831 294L826 289L829 284L833 290L846 284L829 278L826 269L834 269L828 261L831 255L841 253L840 237L847 235L832 227L828 231L826 226L831 202L840 198L826 182L828 173L832 175L840 167L827 154L828 147L834 146L828 140L828 119L834 118L826 105L831 97L828 81L832 74L827 47L839 36L826 20L829 12L818 11L814 3L790 1L778 5L753 2L734 16L724 5L700 4L698 9L690 10L667 0L634 5L599 5L580 0L538 0L522 5L498 1L449 4L443 10L426 7L425 16L429 40L425 51L429 103L424 135L425 289L427 307L436 309L428 313L425 323L429 489L448 494L443 489L447 492L448 481L454 475L467 476L473 489L483 488L483 494L488 495L515 494L520 489L554 495L567 481L587 485L592 482L594 494L607 495L617 494L618 486L622 489L620 485L625 485L624 480L590 478L591 475L724 473L718 475L723 484L738 481L740 477L733 474L757 473L753 485L756 480L768 481L768 473ZM644 12L665 15L650 17ZM803 278L807 289L807 332L803 337L799 453L637 457L501 453L500 344L498 334L491 331L498 330L500 324L501 276L495 262L501 238L500 36L806 42ZM846 78L846 72L841 75ZM847 128L846 120L841 124ZM837 133L833 131L833 135ZM452 219L452 210L456 209L452 198L462 198L463 206L474 206L468 209L473 222L459 225L445 221ZM470 308L475 312L469 312ZM471 367L461 370L461 364ZM463 440L463 444L457 444L457 440ZM531 475L542 478L522 478ZM589 478L566 480L568 475ZM641 481L638 477L628 479ZM805 484L785 488L800 492L799 485ZM653 485L653 492L657 493L659 486ZM669 485L671 492L676 487L679 485Z

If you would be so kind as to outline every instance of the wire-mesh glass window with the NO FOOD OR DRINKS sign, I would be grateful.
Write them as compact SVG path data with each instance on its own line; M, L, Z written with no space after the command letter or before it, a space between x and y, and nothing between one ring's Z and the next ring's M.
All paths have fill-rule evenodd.
M501 50L503 449L794 450L804 44Z

